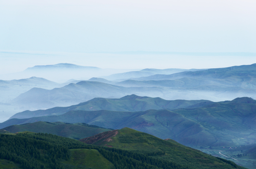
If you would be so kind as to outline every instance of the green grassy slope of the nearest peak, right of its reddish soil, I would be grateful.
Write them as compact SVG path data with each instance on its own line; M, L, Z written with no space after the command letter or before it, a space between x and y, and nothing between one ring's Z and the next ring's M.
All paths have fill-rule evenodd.
M172 143L171 141L162 140L152 135L138 132L134 129L123 128L117 131L118 134L116 136L106 137L94 144L125 150L165 152L166 154L160 158L179 161L185 166L194 166L195 168L200 168L201 165L209 165L209 168L228 168L227 164L224 164L218 161L215 157L204 154L198 150ZM81 139L81 141L83 141L83 139Z

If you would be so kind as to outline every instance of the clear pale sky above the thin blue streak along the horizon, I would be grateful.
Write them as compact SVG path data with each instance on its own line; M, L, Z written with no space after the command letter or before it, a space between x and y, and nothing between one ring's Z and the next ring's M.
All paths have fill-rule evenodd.
M0 50L256 52L256 0L0 0Z

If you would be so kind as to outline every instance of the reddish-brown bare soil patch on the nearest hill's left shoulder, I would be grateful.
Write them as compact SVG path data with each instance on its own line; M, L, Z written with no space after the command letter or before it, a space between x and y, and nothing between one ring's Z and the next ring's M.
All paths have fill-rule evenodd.
M100 143L105 141L107 142L112 141L113 139L111 137L115 137L117 134L118 134L118 130L113 130L113 131L99 133L91 137L83 138L83 139L80 139L79 141L87 144L94 144L97 142L96 144L99 145Z

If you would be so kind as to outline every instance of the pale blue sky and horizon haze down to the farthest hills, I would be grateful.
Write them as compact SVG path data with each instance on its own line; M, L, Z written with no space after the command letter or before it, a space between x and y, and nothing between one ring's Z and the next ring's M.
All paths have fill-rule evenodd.
M0 74L73 63L205 69L256 63L255 0L0 0ZM254 56L109 52L254 52Z

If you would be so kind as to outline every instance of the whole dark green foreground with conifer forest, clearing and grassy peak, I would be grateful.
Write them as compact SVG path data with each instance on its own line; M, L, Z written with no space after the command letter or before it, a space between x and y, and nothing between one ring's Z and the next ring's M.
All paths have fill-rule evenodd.
M0 134L0 165L22 169L245 169L231 161L132 129L117 132L117 138L112 138L118 141L113 143L136 151L88 145L42 133ZM125 140L127 137L132 138L129 143ZM135 148L136 144L153 149L142 151L140 147ZM6 163L7 160L11 162Z

